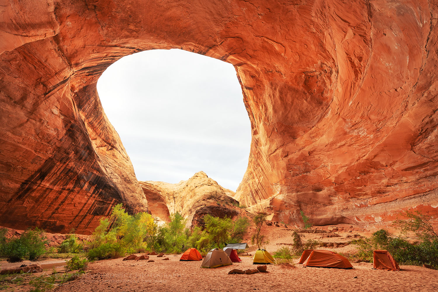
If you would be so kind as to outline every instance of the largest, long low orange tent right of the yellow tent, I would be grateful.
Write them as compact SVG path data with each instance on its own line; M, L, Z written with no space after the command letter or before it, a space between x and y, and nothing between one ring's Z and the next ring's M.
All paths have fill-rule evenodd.
M329 250L312 250L303 263L304 267L337 267L352 269L353 266L343 256Z

